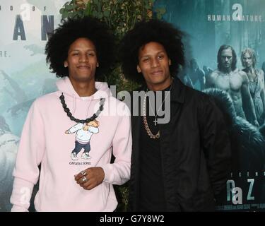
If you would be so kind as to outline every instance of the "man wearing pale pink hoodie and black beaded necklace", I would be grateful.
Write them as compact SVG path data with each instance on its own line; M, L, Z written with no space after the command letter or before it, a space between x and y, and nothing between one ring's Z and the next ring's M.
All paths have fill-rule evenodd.
M112 184L130 177L130 113L107 83L95 82L110 69L113 50L112 35L95 18L64 21L49 38L47 62L61 80L28 112L13 171L12 211L28 211L38 179L37 211L117 208Z

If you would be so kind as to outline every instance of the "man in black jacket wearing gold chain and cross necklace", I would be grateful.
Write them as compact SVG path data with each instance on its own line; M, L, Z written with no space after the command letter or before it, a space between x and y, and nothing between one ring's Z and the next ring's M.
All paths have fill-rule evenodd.
M228 177L230 141L211 98L173 78L184 65L182 32L142 21L121 44L124 74L145 93L132 101L129 209L214 210Z

